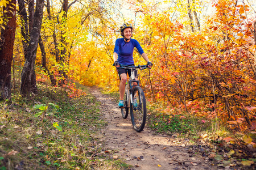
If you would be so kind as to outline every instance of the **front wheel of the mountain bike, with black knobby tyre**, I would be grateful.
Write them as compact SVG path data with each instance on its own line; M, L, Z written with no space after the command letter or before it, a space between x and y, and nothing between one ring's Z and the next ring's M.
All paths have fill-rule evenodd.
M131 104L130 112L134 130L142 131L146 124L147 108L144 92L139 86L133 89L133 104Z

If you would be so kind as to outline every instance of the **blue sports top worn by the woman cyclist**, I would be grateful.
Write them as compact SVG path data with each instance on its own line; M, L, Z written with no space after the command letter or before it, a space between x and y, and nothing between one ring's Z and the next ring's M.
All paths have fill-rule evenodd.
M144 53L143 49L141 48L141 45L135 39L130 39L129 42L125 42L123 38L117 39L115 41L114 53L117 53L117 61L121 63L121 65L134 65L134 47L137 48L140 54Z

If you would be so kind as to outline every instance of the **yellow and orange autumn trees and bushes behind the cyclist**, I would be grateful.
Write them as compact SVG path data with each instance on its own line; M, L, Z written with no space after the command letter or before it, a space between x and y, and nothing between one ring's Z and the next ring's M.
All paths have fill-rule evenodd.
M81 95L75 82L117 92L119 27L154 66L139 80L151 114L218 119L256 147L256 6L234 0L2 0L1 100L30 99L38 83ZM134 51L135 65L146 64ZM233 137L226 142L236 142Z

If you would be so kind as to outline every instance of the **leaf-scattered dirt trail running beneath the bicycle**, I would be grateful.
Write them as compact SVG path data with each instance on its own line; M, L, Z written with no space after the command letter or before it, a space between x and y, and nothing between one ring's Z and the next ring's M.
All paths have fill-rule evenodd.
M131 125L130 115L123 119L117 103L102 95L96 87L90 91L101 102L101 112L108 122L104 130L106 148L115 150L113 155L134 165L133 169L217 169L208 158L191 154L196 146L188 141L155 135L147 125L137 133Z

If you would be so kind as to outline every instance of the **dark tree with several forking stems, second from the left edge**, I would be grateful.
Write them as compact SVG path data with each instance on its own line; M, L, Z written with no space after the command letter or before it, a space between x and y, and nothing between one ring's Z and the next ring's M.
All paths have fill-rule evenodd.
M18 0L19 13L23 19L22 35L23 35L23 50L25 63L21 74L20 94L29 97L31 92L36 94L36 79L35 79L35 59L38 48L39 36L42 27L43 6L44 0L36 0L34 11L34 1L28 1L27 16L25 2ZM28 18L28 21L27 21ZM28 27L29 25L29 27ZM29 29L28 29L29 28Z

